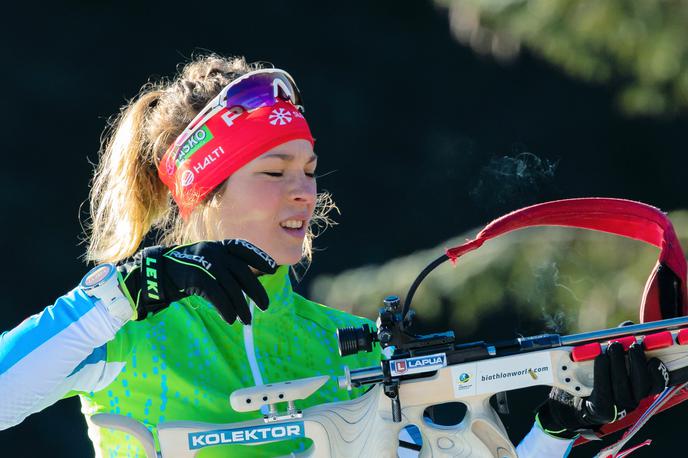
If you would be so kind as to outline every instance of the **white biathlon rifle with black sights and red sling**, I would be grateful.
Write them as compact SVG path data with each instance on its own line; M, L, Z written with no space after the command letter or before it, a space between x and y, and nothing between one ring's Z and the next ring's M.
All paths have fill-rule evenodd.
M489 238L533 225L585 227L661 247L641 305L644 322L569 336L540 334L459 344L451 331L425 335L410 331L413 295L434 268L446 260L456 262ZM669 370L669 388L644 400L624 419L600 429L598 434L604 435L633 425L630 435L600 455L621 457L628 453L620 452L625 442L649 416L688 398L685 279L685 258L673 227L654 207L620 199L548 202L506 215L490 223L474 240L447 250L414 281L403 307L396 296L384 300L376 327L339 329L342 355L371 351L373 345L379 345L387 354L379 366L344 368L344 375L339 377L340 388L370 387L359 398L299 410L296 402L312 395L329 376L240 389L230 396L232 408L250 412L267 407L268 413L262 420L229 424L160 423L159 454L152 433L135 420L110 414L93 415L91 420L101 427L136 436L149 458L193 457L205 447L258 445L299 437L308 437L314 443L304 456L392 457L397 453L400 430L410 424L420 429L421 456L515 458L516 450L490 404L493 396L503 405L503 393L538 385L588 396L593 386L594 358L611 342L618 341L625 349L638 342L648 357L664 362ZM458 424L439 426L425 417L428 407L448 402L466 406L466 414ZM284 403L286 410L280 410Z

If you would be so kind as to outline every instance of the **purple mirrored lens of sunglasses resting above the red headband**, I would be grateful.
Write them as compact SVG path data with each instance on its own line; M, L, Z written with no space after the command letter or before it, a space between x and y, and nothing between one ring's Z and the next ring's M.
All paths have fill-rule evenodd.
M289 78L279 73L257 74L237 83L229 88L223 105L226 108L239 105L245 110L272 106L279 100L275 98L275 87L278 88L279 99L300 105L298 89Z

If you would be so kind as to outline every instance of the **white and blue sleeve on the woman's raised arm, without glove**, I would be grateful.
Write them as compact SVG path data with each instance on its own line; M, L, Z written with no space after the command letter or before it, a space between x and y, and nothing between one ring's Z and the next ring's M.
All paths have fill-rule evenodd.
M117 368L98 362L124 323L76 288L0 335L0 430L71 390L96 390L114 379Z

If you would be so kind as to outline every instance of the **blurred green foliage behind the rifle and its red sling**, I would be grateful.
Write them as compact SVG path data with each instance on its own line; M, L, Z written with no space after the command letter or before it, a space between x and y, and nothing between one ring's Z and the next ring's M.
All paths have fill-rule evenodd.
M688 246L688 211L670 215ZM317 277L311 297L374 318L382 298L406 294L416 275L464 234L394 259ZM647 277L659 250L635 240L570 228L527 228L490 240L438 267L418 289L413 308L437 326L470 333L481 320L509 312L537 331L582 332L638 320ZM504 324L504 323L502 323ZM530 326L529 326L530 324ZM508 326L507 326L508 327ZM512 332L524 332L511 324Z

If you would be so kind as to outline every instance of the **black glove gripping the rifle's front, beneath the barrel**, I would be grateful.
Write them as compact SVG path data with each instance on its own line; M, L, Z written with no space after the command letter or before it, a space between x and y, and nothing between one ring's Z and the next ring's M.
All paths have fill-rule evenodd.
M615 342L595 358L589 397L579 398L552 388L549 399L539 407L537 418L548 434L571 439L582 430L595 430L622 418L638 407L642 399L661 393L667 386L669 371L664 363L657 358L646 360L637 343L631 345L626 355L623 345Z

